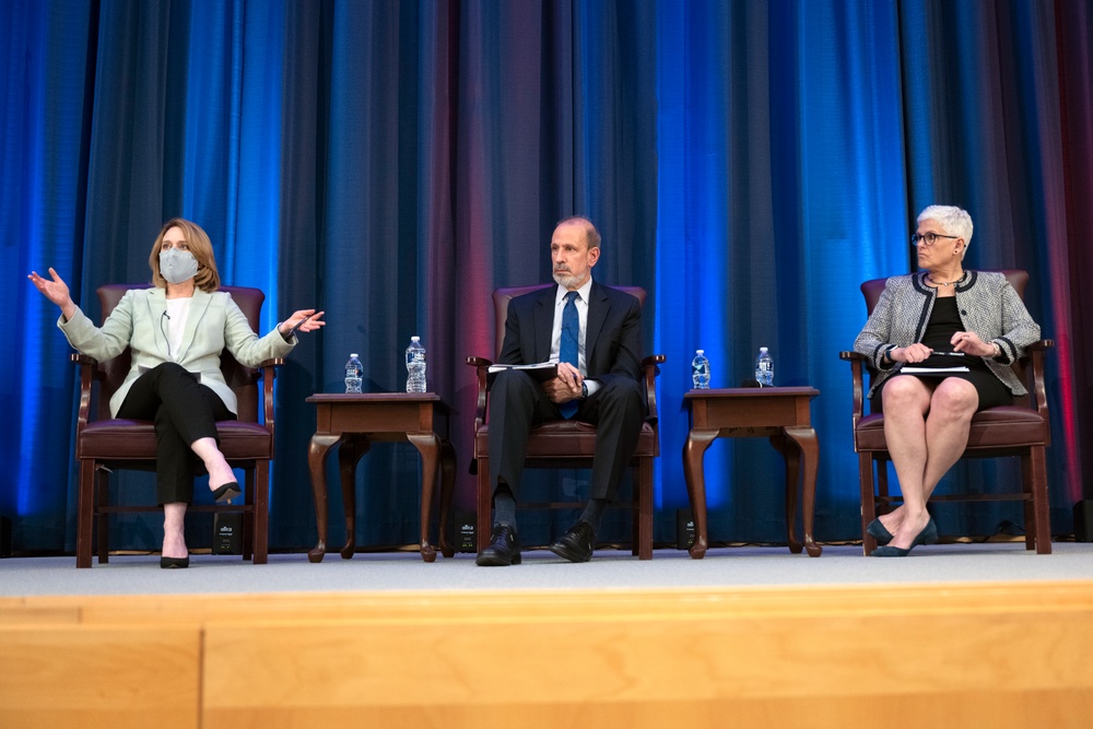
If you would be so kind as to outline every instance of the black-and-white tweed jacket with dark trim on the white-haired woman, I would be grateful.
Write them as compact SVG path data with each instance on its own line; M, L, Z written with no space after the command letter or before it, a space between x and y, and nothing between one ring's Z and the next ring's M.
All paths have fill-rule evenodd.
M903 368L904 363L888 361L884 355L897 346L922 341L938 299L937 290L927 286L925 280L925 271L890 278L865 328L854 340L854 351L869 357L877 373L867 397L872 397L884 380ZM997 358L983 358L987 367L1010 392L1025 395L1012 364L1029 344L1039 340L1039 325L1032 320L1024 302L1001 273L965 271L955 285L956 309L964 331L975 332L1001 350Z

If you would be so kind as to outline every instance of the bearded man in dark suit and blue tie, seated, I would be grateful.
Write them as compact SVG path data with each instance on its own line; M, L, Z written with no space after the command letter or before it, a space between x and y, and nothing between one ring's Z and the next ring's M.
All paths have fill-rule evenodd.
M550 251L557 285L509 303L500 362L557 362L557 376L539 383L526 372L509 369L498 373L491 386L494 526L490 545L479 552L479 566L520 563L516 497L528 434L540 423L563 418L597 426L591 498L577 524L550 550L571 562L590 560L600 517L614 498L645 419L640 303L592 281L600 235L588 220L559 223Z

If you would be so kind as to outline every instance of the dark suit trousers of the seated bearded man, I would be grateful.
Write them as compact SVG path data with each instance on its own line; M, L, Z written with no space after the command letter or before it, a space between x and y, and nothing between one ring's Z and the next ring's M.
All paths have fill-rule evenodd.
M506 369L490 387L490 482L494 490L503 480L519 493L531 428L551 420L563 420L557 405L527 373ZM645 422L642 385L612 378L581 402L572 420L596 425L592 456L592 498L613 501Z

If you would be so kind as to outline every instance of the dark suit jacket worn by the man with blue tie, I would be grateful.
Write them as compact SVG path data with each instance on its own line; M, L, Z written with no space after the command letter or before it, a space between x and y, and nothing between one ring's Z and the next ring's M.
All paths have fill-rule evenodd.
M498 362L533 364L550 358L557 284L517 296L508 303L505 342ZM592 281L585 333L589 379L639 379L642 375L642 304L634 296Z

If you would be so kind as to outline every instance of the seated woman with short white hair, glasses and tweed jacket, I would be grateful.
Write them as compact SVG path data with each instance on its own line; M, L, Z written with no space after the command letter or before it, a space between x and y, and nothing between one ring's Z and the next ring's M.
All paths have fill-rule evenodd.
M919 271L888 280L854 342L878 375L869 390L883 404L884 438L903 505L873 519L874 556L906 556L938 541L926 502L967 445L972 415L1011 404L1025 389L1011 365L1039 339L1039 326L1001 273L965 271L972 217L930 205L910 236Z

